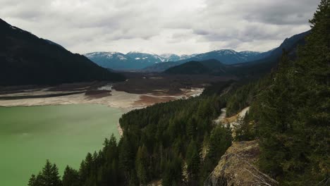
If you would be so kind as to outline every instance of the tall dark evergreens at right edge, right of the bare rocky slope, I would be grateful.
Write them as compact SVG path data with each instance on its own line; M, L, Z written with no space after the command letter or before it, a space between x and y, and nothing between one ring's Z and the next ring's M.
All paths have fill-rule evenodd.
M284 54L271 82L252 104L259 165L281 185L329 182L330 1L322 0L298 58Z

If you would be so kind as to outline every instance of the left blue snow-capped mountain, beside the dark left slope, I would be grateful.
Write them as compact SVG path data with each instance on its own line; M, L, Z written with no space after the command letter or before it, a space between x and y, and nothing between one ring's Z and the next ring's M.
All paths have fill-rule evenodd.
M179 61L187 58L191 58L193 55L181 55L176 54L147 54L138 51L130 51L127 54L119 52L105 52L97 51L85 54L97 65L104 68L113 68L116 70L137 70L147 68L157 63L168 62L168 61Z

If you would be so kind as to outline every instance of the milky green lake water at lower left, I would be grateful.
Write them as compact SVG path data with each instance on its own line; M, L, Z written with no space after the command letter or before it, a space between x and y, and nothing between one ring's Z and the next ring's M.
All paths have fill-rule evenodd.
M22 186L49 159L79 168L88 151L119 137L120 109L103 105L0 107L0 185Z

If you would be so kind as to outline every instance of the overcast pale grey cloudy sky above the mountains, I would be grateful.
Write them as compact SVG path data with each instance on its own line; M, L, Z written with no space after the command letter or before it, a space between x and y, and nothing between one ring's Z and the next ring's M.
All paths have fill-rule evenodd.
M0 18L74 53L267 51L310 29L319 0L0 0Z

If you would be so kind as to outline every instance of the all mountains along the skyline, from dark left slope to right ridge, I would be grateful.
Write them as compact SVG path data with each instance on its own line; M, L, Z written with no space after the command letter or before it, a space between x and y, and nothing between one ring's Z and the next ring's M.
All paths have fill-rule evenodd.
M309 31L287 38L278 48L262 53L219 50L178 56L137 51L128 54L94 52L85 54L86 58L80 54L72 54L55 42L39 38L0 19L0 86L125 80L123 75L114 73L111 68L165 71L164 73L251 76L273 68L281 57L282 49L295 56L298 44L304 44L304 37L308 34ZM187 63L190 61L193 62ZM199 61L200 63L197 63Z

